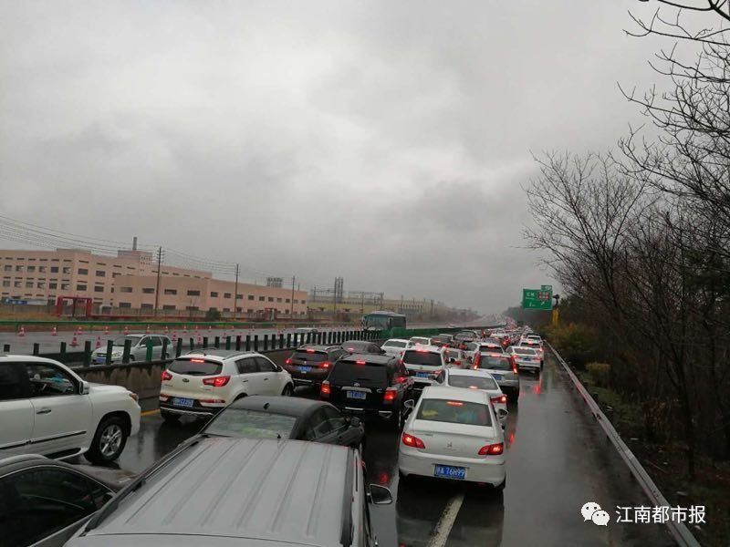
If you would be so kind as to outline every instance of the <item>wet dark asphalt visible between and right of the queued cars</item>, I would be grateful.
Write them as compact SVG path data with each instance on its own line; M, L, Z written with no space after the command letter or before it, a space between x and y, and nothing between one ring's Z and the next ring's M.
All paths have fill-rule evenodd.
M541 377L521 380L519 406L509 408L506 424L504 493L443 480L400 484L399 436L368 423L370 481L390 487L395 498L371 509L380 544L673 545L659 525L616 522L617 506L648 501L559 365L548 358ZM297 396L317 394L300 387ZM140 435L120 458L121 469L145 469L199 428L187 419L166 424L157 413L145 415ZM607 527L583 521L580 508L587 501L609 512Z

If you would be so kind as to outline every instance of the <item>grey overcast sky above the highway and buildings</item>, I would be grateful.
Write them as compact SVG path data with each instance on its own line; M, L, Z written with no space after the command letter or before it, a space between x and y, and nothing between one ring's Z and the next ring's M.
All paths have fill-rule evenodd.
M550 283L530 151L640 119L630 7L0 1L0 214L499 312Z

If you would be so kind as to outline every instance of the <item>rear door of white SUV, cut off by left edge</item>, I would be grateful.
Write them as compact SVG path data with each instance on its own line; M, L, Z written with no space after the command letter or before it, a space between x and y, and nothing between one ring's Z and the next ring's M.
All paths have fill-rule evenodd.
M7 456L28 452L33 434L33 404L24 375L21 364L0 364L0 454Z

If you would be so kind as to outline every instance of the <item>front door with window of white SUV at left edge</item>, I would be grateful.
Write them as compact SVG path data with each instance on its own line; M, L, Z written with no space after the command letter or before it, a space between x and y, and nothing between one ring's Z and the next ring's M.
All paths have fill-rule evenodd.
M32 451L53 454L89 446L93 409L88 395L79 394L78 379L52 363L23 363L30 384L34 423Z

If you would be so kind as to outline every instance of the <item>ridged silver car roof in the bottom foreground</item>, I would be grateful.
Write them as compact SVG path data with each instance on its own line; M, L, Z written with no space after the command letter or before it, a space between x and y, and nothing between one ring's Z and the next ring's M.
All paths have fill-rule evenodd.
M325 443L195 439L130 484L71 544L172 534L198 545L236 538L339 545L353 458L351 449Z

